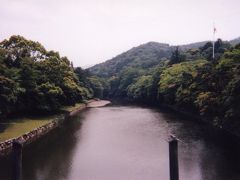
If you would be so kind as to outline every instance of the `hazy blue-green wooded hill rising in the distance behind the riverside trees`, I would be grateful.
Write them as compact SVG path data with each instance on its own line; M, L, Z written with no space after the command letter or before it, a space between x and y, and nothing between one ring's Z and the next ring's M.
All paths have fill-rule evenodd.
M149 42L97 64L89 68L89 71L100 77L111 77L128 67L151 68L159 64L163 58L169 58L171 52L172 48L168 44Z

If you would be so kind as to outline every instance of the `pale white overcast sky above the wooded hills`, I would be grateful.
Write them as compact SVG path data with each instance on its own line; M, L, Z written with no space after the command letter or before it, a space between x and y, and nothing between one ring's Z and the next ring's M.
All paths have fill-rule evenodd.
M149 41L186 44L240 36L240 0L0 0L0 40L13 34L59 51L74 66Z

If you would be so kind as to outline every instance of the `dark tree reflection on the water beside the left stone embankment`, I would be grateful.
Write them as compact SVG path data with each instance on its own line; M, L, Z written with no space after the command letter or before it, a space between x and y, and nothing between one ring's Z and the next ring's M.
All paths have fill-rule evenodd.
M78 117L81 119L81 115ZM23 150L23 179L67 179L72 154L77 142L75 132L81 130L80 119L72 119ZM11 156L0 159L0 179L11 179Z

